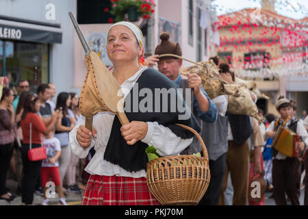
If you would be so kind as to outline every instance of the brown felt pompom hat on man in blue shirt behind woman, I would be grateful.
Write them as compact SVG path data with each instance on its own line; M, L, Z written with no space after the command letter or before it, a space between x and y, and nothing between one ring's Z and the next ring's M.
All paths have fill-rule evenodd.
M162 32L159 38L162 42L156 47L155 55L174 54L182 56L182 50L179 43L175 43L169 40L170 34L168 32ZM176 59L176 57L166 56L160 57L159 60Z

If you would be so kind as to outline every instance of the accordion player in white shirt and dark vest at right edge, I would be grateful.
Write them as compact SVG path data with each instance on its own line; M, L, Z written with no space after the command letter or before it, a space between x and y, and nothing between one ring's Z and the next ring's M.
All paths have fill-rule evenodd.
M300 136L298 142L298 152L303 153L308 144L308 133L301 120L294 120L290 116L291 103L283 96L279 96L276 104L276 110L280 118L272 121L266 129L266 135L274 138L277 135L279 127L291 129ZM287 142L285 142L287 144ZM288 146L288 145L285 145ZM290 145L292 147L292 145ZM272 184L274 185L274 199L277 205L287 205L285 193L291 200L292 205L300 205L300 161L298 157L287 157L283 153L272 149Z

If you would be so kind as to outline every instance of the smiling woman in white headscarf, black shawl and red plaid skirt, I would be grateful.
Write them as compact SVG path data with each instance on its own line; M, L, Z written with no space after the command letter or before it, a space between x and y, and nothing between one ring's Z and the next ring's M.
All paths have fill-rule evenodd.
M176 91L175 83L144 66L144 41L136 25L122 21L110 27L107 55L123 92L130 123L122 126L115 114L100 112L93 117L91 131L84 126L84 116L70 131L75 155L84 158L92 147L96 151L85 169L90 178L82 205L159 205L146 184L145 149L153 145L159 155L177 155L192 143L193 134L175 124L196 131L200 127L192 114L185 116L189 108L185 112L179 109L186 107L181 94L162 94Z

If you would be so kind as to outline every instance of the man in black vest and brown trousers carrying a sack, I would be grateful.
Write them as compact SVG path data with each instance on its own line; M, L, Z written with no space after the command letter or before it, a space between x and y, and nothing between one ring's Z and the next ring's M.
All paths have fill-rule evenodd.
M229 70L228 64L220 64L220 75L228 83L235 83L235 75ZM257 97L251 93L256 102ZM253 98L254 97L254 98ZM248 162L249 145L253 129L249 116L228 114L228 151L226 155L226 171L222 183L219 205L224 205L224 190L227 188L230 172L233 185L233 205L246 205L248 197Z

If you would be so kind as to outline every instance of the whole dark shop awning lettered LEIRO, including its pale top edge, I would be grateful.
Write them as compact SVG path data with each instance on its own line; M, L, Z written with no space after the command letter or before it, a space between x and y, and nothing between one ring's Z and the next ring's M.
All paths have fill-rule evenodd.
M62 43L62 29L0 19L0 39Z

